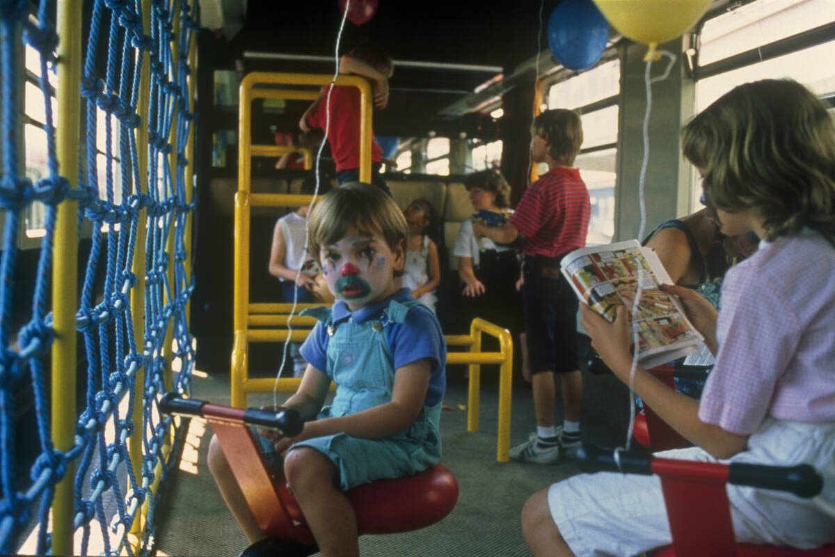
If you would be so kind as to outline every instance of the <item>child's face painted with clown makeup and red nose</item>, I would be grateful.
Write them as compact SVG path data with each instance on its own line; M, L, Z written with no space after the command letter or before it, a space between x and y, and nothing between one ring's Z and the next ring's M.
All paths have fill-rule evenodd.
M349 229L319 253L328 290L357 311L397 291L394 271L402 268L402 246L392 251L381 235Z

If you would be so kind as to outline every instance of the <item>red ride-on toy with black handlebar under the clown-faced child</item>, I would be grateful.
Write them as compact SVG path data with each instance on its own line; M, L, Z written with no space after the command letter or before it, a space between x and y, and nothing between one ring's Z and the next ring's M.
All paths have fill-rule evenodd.
M214 429L252 514L270 536L252 544L242 556L316 553L316 542L296 498L287 489L284 477L267 468L249 428L271 428L292 437L304 427L295 410L230 408L181 398L173 392L160 400L159 409L169 414L201 416ZM410 478L380 479L345 494L357 514L360 534L394 534L424 528L447 516L458 501L458 482L443 464L435 464Z

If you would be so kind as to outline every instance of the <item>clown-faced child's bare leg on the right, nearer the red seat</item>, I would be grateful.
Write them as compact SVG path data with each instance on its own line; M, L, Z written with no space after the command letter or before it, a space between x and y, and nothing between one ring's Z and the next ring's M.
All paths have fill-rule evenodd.
M315 448L299 447L286 453L284 474L322 557L360 554L357 515L337 489L337 468Z

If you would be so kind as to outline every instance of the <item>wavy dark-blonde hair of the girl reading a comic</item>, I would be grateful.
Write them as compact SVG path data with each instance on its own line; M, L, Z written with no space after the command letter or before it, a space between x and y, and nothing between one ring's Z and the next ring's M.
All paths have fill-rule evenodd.
M731 89L684 127L681 145L711 205L753 210L769 241L808 226L835 244L835 125L801 84Z

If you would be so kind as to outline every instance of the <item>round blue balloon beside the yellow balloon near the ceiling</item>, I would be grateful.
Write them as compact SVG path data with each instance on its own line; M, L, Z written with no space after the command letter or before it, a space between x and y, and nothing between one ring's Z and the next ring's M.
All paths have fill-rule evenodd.
M609 22L592 0L563 0L548 18L548 46L565 68L591 68L609 40Z

